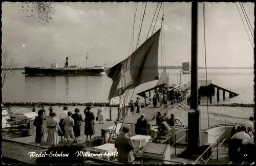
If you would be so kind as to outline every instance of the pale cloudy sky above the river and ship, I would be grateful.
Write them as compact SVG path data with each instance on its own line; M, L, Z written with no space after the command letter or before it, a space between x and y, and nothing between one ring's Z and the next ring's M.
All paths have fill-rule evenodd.
M254 4L243 4L254 29ZM43 66L50 67L56 62L63 67L66 57L71 64L75 62L85 67L86 52L89 53L88 67L103 64L112 67L129 56L136 3L54 3L55 12L46 25L37 18L27 18L28 13L19 13L17 5L8 2L2 5L2 40L5 48L16 55L15 62L20 67L39 66L40 58ZM146 40L156 7L157 3L147 3L139 45ZM141 9L142 3L139 3L134 49ZM161 27L163 15L164 38L163 44L161 38L159 40L159 66L164 63L181 66L182 62L190 62L191 3L165 2L154 32ZM198 65L205 67L202 3L199 3L198 19ZM152 30L153 27L150 35ZM207 67L253 67L253 48L236 3L205 3L205 32Z

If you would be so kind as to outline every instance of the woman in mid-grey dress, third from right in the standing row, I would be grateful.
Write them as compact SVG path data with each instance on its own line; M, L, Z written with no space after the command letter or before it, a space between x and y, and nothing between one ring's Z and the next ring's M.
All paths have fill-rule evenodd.
M75 139L73 127L75 126L74 119L71 118L72 113L68 112L68 117L63 120L63 125L65 128L65 137L67 139L67 142L69 142L70 139Z

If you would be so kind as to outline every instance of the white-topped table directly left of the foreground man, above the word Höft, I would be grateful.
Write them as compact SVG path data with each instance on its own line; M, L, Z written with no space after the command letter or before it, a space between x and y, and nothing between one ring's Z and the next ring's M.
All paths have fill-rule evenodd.
M117 149L115 144L104 144L91 149L92 152L99 152L102 154L102 159L108 159L109 161L117 157ZM104 155L105 153L110 155ZM113 155L112 155L113 154Z

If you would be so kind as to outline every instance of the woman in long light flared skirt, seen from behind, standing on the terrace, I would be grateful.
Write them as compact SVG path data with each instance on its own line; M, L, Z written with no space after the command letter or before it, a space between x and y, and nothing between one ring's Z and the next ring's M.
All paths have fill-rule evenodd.
M52 113L46 124L48 128L48 136L46 144L48 146L57 145L59 143L58 131L61 133L56 113Z

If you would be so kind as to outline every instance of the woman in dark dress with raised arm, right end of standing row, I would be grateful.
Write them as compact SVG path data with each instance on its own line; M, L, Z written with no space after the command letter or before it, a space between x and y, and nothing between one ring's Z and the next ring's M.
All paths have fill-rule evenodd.
M89 142L88 137L90 135L90 140L92 139L92 135L94 135L94 119L95 116L93 112L91 112L91 107L86 107L83 111L84 115L86 115L86 119L84 121L86 122L86 125L84 126L84 135L86 135L86 141Z

